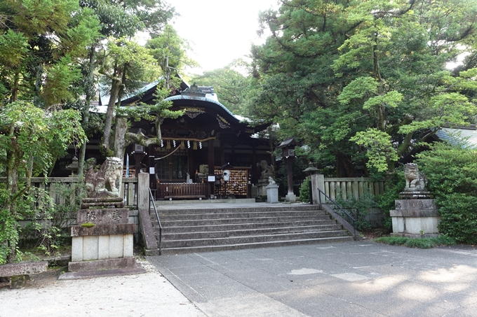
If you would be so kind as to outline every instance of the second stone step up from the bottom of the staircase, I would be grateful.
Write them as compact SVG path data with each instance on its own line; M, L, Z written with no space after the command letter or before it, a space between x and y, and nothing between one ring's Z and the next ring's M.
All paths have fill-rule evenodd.
M211 239L189 239L189 240L172 240L166 239L162 242L163 248L184 248L191 246L225 246L228 244L254 244L270 241L290 241L318 239L325 237L342 237L347 236L347 231L324 231L324 232L300 232L291 234L258 234L254 236L239 236L226 238Z

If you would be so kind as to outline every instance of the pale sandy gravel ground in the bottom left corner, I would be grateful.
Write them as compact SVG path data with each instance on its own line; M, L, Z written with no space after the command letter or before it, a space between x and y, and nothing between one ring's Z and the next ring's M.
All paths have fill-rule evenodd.
M137 262L146 274L58 281L62 269L50 269L25 288L0 288L0 317L206 316L147 260Z

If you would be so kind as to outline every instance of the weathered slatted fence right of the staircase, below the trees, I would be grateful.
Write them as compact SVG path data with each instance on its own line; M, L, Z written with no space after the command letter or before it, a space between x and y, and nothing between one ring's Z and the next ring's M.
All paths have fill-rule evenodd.
M382 195L384 181L374 178L325 178L324 188L320 188L331 199L361 199L364 195ZM328 198L325 198L328 200Z

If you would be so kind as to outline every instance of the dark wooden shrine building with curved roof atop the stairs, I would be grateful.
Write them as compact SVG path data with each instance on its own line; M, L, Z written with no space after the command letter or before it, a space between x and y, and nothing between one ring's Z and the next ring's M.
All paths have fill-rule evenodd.
M154 83L147 85L140 94L121 100L121 106L154 104L156 87ZM182 110L184 115L163 119L161 144L148 148L131 144L126 148L124 176L126 170L129 177L139 170L149 172L156 199L251 197L260 178L260 162L272 164L270 141L257 134L267 126L251 127L231 113L220 104L213 87L183 82L166 100L172 102L169 110ZM106 97L100 100L102 104L107 104ZM130 125L129 132L156 136L154 121L131 120ZM99 139L90 140L86 159L92 155L98 163L105 159L98 157L98 145ZM225 177L224 171L228 174Z

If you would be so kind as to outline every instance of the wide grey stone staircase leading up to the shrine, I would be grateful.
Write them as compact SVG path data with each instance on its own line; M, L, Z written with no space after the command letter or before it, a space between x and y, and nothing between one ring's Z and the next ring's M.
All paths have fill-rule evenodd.
M257 204L158 212L163 227L162 254L353 240L349 231L316 205ZM154 212L151 219L159 238Z

